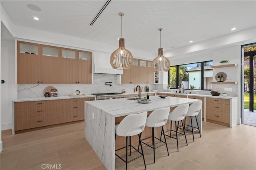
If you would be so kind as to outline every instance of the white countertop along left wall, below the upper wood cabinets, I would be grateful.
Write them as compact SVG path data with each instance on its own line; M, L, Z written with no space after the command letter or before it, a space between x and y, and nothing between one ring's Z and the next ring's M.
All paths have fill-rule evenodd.
M85 95L85 96L58 96L58 97L48 97L48 98L19 98L15 99L12 102L31 102L31 101L41 101L41 100L60 100L60 99L72 99L72 98L94 98L94 95Z

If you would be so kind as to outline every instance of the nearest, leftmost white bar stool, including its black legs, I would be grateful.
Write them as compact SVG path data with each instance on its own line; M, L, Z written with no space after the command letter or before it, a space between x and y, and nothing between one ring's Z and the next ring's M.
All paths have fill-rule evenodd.
M118 154L116 154L116 156L118 156L118 158L120 158L121 160L123 160L126 163L125 164L126 170L127 170L128 162L131 162L132 160L135 160L141 156L143 157L143 161L144 161L144 165L145 165L145 169L146 169L146 163L145 163L144 153L143 153L143 149L142 149L140 133L145 128L147 115L148 115L148 113L146 111L144 111L142 113L127 115L126 117L124 117L124 119L122 119L122 121L118 125L116 125L116 135L126 137L126 146L120 148L120 149L126 148L126 156L125 156L126 159L124 160ZM138 135L138 137L139 137L139 144L141 147L141 152L131 145L131 136L134 136L134 135ZM129 145L128 145L128 137L130 137ZM130 155L131 155L131 147L133 149L135 149L137 152L139 152L141 155L128 161L128 152L127 152L128 147L130 147ZM120 150L120 149L117 149L117 150Z

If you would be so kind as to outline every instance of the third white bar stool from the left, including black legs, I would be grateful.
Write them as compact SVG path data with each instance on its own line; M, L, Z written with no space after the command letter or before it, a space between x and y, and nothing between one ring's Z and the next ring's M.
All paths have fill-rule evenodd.
M189 107L189 104L182 104L182 105L176 107L172 112L170 112L169 117L168 117L168 119L171 121L171 127L170 127L170 130L169 130L170 131L170 136L169 135L166 135L166 136L176 139L178 151L179 151L178 139L180 139L181 137L185 136L186 143L188 145L187 138L186 138L186 133L185 133L184 125L183 125L183 120L185 119L186 114L188 112L188 107ZM172 121L175 121L175 131L172 130ZM178 132L177 121L181 121L184 133ZM172 137L172 131L176 132L176 138ZM182 135L179 138L178 138L178 133Z

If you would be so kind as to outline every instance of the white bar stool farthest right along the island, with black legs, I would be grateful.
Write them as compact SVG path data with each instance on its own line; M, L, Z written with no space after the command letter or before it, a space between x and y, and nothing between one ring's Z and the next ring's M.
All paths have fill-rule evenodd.
M188 130L188 129L185 129L185 130L192 132L193 142L195 142L195 140L194 140L194 131L198 130L199 131L199 135L201 137L200 129L199 129L199 126L198 126L198 121L197 121L197 118L196 118L196 116L198 115L198 113L200 112L201 109L202 109L202 101L195 102L195 103L191 104L188 107L188 113L187 113L187 116L190 116L191 126L190 125L186 125L186 118L185 118L185 122L184 122L184 127L189 126L192 129L192 130ZM196 118L197 128L193 127L192 117ZM193 128L195 128L195 130Z

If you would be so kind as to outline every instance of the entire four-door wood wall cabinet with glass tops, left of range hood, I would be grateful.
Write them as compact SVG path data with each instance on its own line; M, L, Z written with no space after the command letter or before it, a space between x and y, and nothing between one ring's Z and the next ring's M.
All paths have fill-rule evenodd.
M92 52L17 41L18 84L91 84Z

